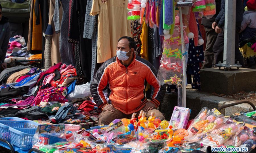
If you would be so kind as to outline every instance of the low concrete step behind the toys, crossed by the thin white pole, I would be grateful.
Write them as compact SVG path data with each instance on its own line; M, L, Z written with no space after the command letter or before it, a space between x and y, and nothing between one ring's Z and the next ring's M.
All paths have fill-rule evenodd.
M160 106L160 110L165 114L166 120L170 120L174 106L177 106L177 93L166 93L164 101ZM190 108L191 115L190 119L194 119L203 107L209 109L219 108L220 106L227 105L230 103L237 102L232 98L213 96L206 92L201 91L189 91L187 90L187 108ZM238 112L245 112L252 110L252 106L249 104L239 104L222 109L220 112L224 115L232 115Z

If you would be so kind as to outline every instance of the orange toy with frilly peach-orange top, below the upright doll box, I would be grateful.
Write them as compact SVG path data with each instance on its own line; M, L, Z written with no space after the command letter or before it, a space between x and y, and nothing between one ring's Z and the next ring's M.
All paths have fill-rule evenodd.
M178 129L177 131L174 132L172 140L167 142L167 146L175 147L175 144L182 143L182 140L184 139L185 136L188 136L188 131L184 128Z

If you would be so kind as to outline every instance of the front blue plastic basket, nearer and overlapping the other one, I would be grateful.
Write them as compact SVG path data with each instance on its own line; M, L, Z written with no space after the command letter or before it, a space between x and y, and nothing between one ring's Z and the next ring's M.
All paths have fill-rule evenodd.
M23 150L31 149L39 124L30 120L20 121L19 124L18 127L9 127L11 144Z

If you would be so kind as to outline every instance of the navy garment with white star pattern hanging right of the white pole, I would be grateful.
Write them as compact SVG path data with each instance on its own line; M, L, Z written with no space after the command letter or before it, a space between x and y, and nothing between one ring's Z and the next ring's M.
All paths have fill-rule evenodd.
M197 28L199 35L201 35L200 28L197 22ZM200 85L200 68L202 66L202 62L204 61L204 50L203 45L195 46L194 39L189 39L188 46L188 65L187 65L187 79L188 83L191 82L191 75L194 75L192 82L192 89L201 89ZM190 78L190 80L189 80Z

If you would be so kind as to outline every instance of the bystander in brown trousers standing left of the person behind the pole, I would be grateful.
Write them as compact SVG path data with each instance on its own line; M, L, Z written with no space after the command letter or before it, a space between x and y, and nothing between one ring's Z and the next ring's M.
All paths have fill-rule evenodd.
M217 39L218 33L212 29L212 23L220 12L221 0L215 0L216 2L216 14L212 18L205 18L203 16L201 25L204 25L204 30L206 33L206 48L204 50L204 65L202 69L212 68L213 66L213 45Z

